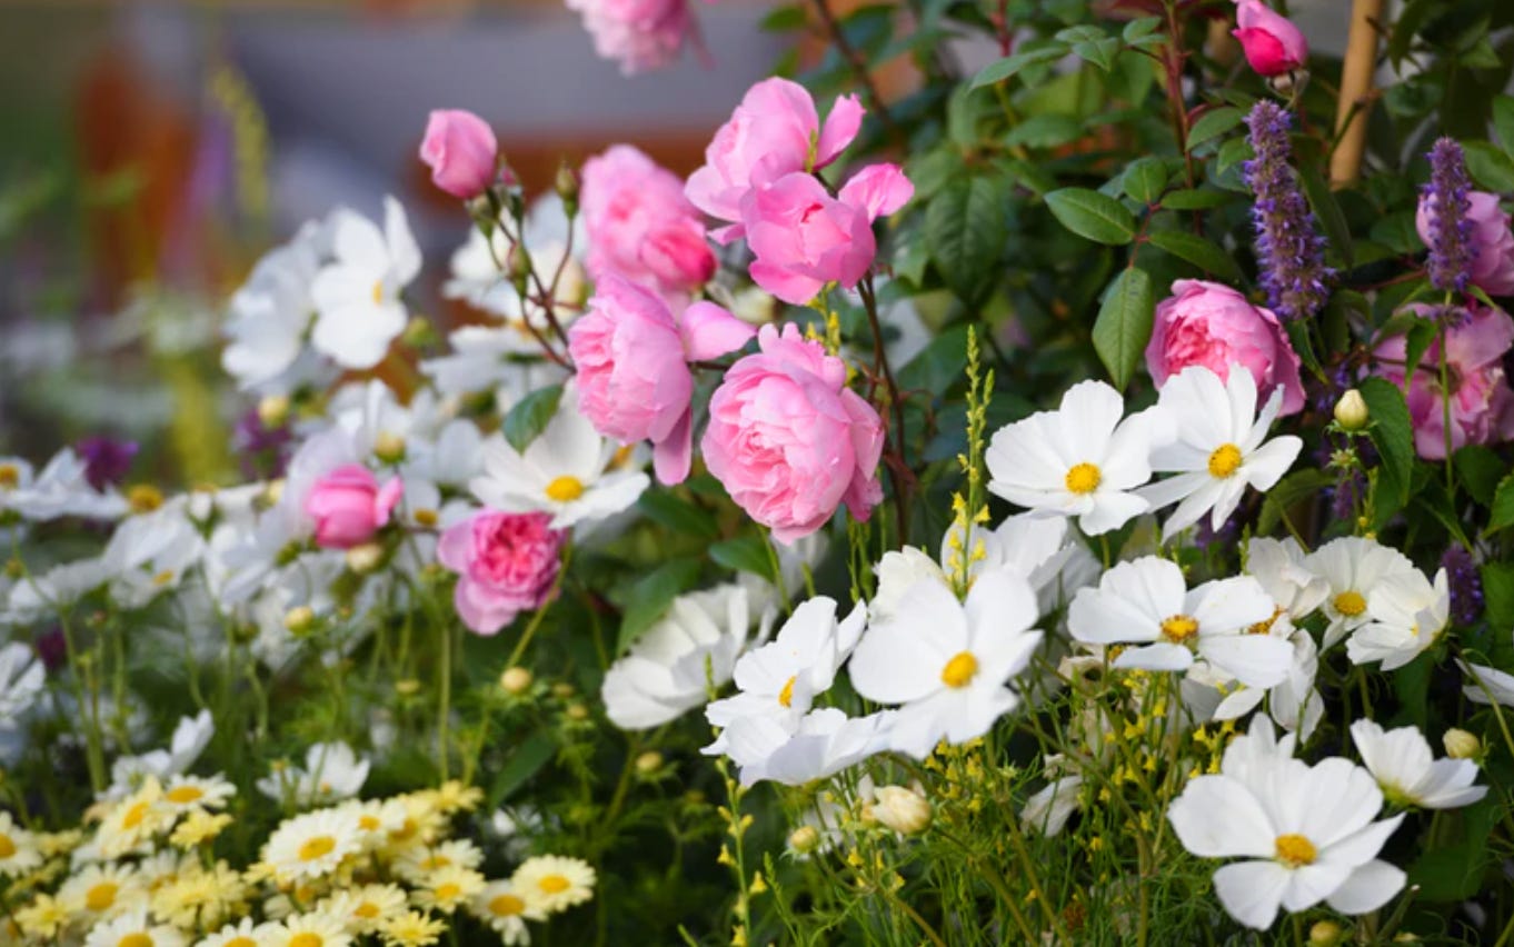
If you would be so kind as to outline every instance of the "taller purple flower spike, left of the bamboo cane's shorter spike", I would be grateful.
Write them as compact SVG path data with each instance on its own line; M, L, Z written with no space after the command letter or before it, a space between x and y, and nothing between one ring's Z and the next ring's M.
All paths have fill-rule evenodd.
M1305 319L1325 306L1326 283L1335 271L1325 266L1325 241L1288 165L1290 118L1281 106L1258 101L1246 124L1257 153L1246 162L1245 175L1257 195L1252 219L1261 287L1267 290L1267 306L1284 321Z

